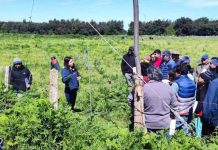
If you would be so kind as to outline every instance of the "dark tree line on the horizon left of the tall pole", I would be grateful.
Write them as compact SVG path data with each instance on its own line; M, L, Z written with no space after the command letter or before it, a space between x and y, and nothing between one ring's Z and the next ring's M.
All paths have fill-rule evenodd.
M123 21L111 20L108 22L90 22L103 35L124 34ZM27 22L0 22L0 32L4 33L34 33L34 34L81 34L96 35L96 31L88 22L78 19L49 20L48 23Z

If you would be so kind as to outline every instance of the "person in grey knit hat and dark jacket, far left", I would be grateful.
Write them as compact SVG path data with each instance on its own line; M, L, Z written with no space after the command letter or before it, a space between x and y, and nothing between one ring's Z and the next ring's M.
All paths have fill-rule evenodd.
M20 58L14 58L13 66L10 67L9 83L16 91L27 91L32 84L32 74L27 67L22 64Z

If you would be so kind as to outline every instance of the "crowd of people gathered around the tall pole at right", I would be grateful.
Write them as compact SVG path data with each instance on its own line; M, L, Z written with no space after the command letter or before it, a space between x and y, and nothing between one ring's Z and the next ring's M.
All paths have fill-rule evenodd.
M130 47L121 63L129 87L137 74L134 60L134 49ZM175 128L183 129L185 133L190 132L193 117L198 118L198 136L211 134L218 127L218 58L210 59L205 54L200 61L193 69L188 56L181 57L178 51L161 52L159 49L141 60L148 131L170 129L170 122L175 118ZM134 92L128 96L130 105L134 101L132 94Z

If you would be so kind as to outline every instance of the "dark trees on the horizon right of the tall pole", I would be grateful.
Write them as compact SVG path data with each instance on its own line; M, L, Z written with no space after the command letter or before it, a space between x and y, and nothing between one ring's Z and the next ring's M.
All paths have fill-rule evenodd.
M130 23L128 35L133 34L133 22ZM154 20L139 22L140 35L176 35L176 36L212 36L218 35L218 20L207 17L192 20L181 17L176 21Z

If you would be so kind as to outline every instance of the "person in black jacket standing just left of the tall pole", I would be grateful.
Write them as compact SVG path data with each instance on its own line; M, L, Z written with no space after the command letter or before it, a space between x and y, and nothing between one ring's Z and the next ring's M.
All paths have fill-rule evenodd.
M136 67L134 48L130 46L128 49L128 52L125 55L123 55L123 59L121 62L121 70L122 70L123 75L126 78L126 82L129 87L132 87L134 67Z

